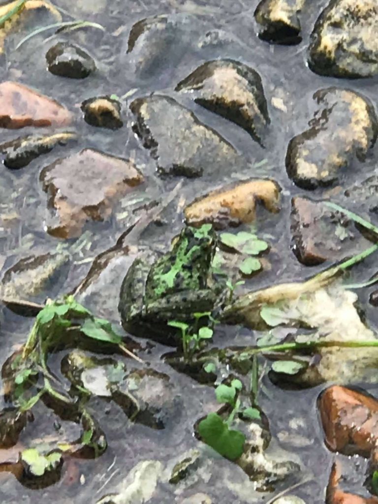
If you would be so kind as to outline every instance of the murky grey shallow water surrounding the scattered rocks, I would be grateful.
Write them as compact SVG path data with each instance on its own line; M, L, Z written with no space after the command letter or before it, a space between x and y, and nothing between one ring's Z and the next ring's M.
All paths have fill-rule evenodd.
M295 187L288 179L284 158L288 141L302 131L309 117L312 116L312 95L320 88L341 85L361 91L374 103L377 96L377 82L374 79L340 82L336 79L314 75L306 66L306 47L308 36L321 9L326 5L324 0L307 2L303 10L302 32L303 41L296 46L273 46L261 41L256 33L257 27L253 13L257 0L249 2L225 0L219 2L180 1L150 2L149 0L79 0L75 5L70 0L56 1L55 5L65 9L75 19L85 19L102 24L106 30L87 29L66 34L79 45L85 47L98 63L98 71L83 81L71 81L49 74L45 69L44 54L52 42L59 39L56 35L52 40L44 42L44 37L36 36L19 50L13 50L11 40L8 47L7 60L2 68L4 80L17 80L31 87L38 88L60 103L73 110L76 116L75 128L80 134L77 144L59 147L50 154L39 157L27 168L19 171L9 171L3 167L0 184L0 214L17 214L17 217L3 225L0 230L0 266L5 271L18 259L25 255L53 251L62 246L61 241L49 236L45 230L48 218L46 210L46 195L42 192L38 180L43 166L50 164L58 157L78 152L82 148L100 149L114 156L134 158L146 176L146 183L136 192L143 203L151 201L164 202L177 183L177 179L161 179L155 175L155 164L149 157L131 130L131 113L128 104L138 96L144 96L155 91L159 94L174 96L174 98L191 108L204 123L217 130L246 158L245 168L238 173L229 173L225 179L216 176L201 179L184 179L180 190L180 209L182 203L191 202L195 196L223 185L228 180L246 179L250 176L272 177L281 185L282 209L278 215L262 213L257 223L259 233L269 236L271 251L269 261L271 269L264 271L255 279L248 281L240 292L249 288L261 288L280 281L290 281L306 278L327 265L316 268L306 268L300 265L290 250L289 211L290 198L303 191ZM220 5L221 4L221 5ZM132 65L125 54L127 38L133 24L147 16L162 13L174 13L184 17L190 29L188 37L181 47L180 58L172 64L166 62L161 73L141 79L135 76ZM66 16L67 19L70 19ZM65 18L65 19L66 19ZM209 30L220 29L230 34L233 42L223 47L208 47L206 50L194 50L193 46L199 36ZM63 38L62 36L60 36ZM192 46L187 49L185 44ZM172 54L172 57L174 54ZM271 126L266 148L252 141L249 135L233 123L221 119L193 104L188 97L176 96L173 89L177 82L193 71L202 62L216 57L232 57L243 61L256 69L262 77L266 98L268 101ZM81 117L80 104L84 99L104 94L122 96L134 90L127 98L123 107L124 127L116 132L90 127ZM272 98L281 98L287 112L272 105ZM31 131L31 130L30 130ZM22 135L29 133L28 129ZM21 133L20 133L21 134ZM15 138L14 131L2 132L4 141ZM374 158L377 147L371 153L359 171L349 171L341 179L342 183L358 183L374 171ZM257 167L254 167L257 165ZM311 192L314 198L321 197L322 191ZM163 250L170 239L177 233L182 223L182 213L177 211L179 198L161 214L160 225L151 224L142 234L138 244L150 246L153 250ZM126 205L126 204L125 204ZM122 218L122 204L115 209L110 220L95 223L86 227L86 240L78 250L75 244L78 240L68 240L65 247L73 253L72 266L66 281L60 286L60 292L73 289L85 277L91 260L103 250L112 246L119 235L130 224L127 218ZM4 221L3 221L4 222ZM79 238L80 240L80 238ZM357 266L352 277L368 278L374 272L374 257L363 265ZM111 290L111 289L109 289ZM361 291L360 303L366 317L375 326L374 308L367 304L368 293L372 289ZM102 302L101 296L93 301L91 309L118 322L116 305L118 290L114 287L106 306L96 305ZM17 347L25 341L27 331L32 324L16 316L9 310L3 313L3 323L0 328L0 349L2 360L5 360ZM148 335L143 335L148 337ZM221 329L217 333L216 344L253 343L255 335L251 332L238 334L238 329ZM188 377L174 372L163 364L160 356L166 351L159 345L154 346L149 354L149 360L154 368L167 372L176 383L184 401L180 418L165 430L152 430L148 427L131 424L123 412L116 406L97 399L91 406L96 418L105 429L108 440L106 453L97 460L73 460L62 470L58 483L43 490L30 490L23 487L12 475L0 474L0 499L2 502L36 502L54 501L65 504L74 501L75 504L95 502L103 494L111 492L114 485L122 480L137 462L145 459L166 462L186 449L195 447L198 442L193 437L193 424L204 414L204 405L214 398L211 388L200 386ZM129 364L130 365L130 364ZM303 462L303 474L298 475L301 481L307 473L310 481L303 483L296 490L308 503L324 502L324 489L328 481L329 469L333 455L323 444L322 430L316 409L316 398L325 387L306 391L281 390L270 383L267 377L263 382L260 404L270 420L273 437L281 440L281 446L295 453ZM371 389L374 393L374 389ZM56 435L52 428L53 415L47 410L38 410L33 427L26 429L20 437L20 442L27 445L30 439L44 438ZM43 421L39 422L43 417ZM39 427L38 427L39 425ZM297 426L299 427L297 428ZM295 426L295 427L294 427ZM77 426L65 426L71 438L78 435ZM351 464L361 463L351 461ZM216 468L214 468L216 467ZM363 471L360 471L363 474ZM81 478L80 478L81 476ZM71 478L71 479L70 479ZM110 478L110 479L109 479ZM109 480L109 481L108 481ZM265 502L273 494L253 492L252 485L237 466L223 459L213 460L211 479L194 483L192 488L185 490L182 496L203 491L208 493L213 502L218 504L232 502ZM282 488L285 488L283 486ZM280 487L280 490L282 489ZM159 491L151 499L155 502L179 502L179 497L167 484L161 485ZM181 497L181 495L180 495Z

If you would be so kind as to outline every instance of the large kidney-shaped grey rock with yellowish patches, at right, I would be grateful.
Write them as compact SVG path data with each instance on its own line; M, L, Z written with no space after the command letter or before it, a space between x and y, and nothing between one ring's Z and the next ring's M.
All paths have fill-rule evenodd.
M362 95L328 88L313 98L320 106L310 128L290 141L286 153L287 173L304 189L331 185L341 170L364 161L378 131L374 109Z

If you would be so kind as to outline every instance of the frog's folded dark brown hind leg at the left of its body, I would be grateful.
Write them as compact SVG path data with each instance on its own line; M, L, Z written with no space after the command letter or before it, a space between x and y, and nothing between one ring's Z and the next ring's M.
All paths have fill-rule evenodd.
M136 259L123 279L118 311L125 330L143 317L145 286L150 268L143 259Z

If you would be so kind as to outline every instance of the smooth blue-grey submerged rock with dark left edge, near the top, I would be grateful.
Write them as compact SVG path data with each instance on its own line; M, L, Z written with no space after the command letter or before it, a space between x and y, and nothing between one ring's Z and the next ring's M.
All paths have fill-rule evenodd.
M128 53L138 77L150 78L175 67L190 46L191 26L191 16L184 14L151 16L135 23Z

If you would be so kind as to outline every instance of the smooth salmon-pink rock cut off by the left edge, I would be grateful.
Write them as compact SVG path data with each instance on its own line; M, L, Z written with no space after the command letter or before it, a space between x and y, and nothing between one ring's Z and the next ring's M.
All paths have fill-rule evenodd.
M71 122L71 113L55 100L17 82L0 84L0 128L62 128Z

